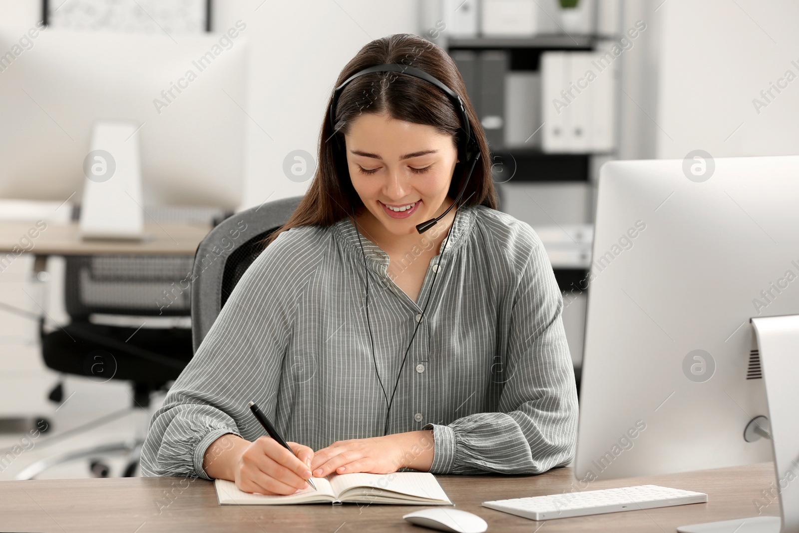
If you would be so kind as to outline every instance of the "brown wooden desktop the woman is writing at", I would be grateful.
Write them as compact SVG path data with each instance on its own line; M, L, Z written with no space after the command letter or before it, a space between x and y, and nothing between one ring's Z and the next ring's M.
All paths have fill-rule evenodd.
M646 483L708 494L708 503L662 507L535 522L481 507L488 499L555 494L569 487L570 468L538 476L440 475L439 483L456 508L482 516L488 531L634 531L668 533L678 526L757 515L753 500L775 482L773 464L658 475L646 478L597 481L588 490ZM188 487L187 487L188 485ZM181 490L181 487L186 487ZM158 512L157 499L173 490L168 507ZM163 500L168 502L169 500ZM308 504L291 506L220 506L213 484L205 479L123 478L64 479L0 482L0 531L236 531L272 533L314 531L411 531L402 515L423 507ZM764 515L779 515L775 501ZM543 527L546 525L546 527Z

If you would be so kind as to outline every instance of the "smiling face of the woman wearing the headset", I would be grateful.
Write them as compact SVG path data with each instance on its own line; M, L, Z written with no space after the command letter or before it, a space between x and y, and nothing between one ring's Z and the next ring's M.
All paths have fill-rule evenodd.
M366 113L345 135L352 186L372 217L397 236L439 213L458 162L451 135L430 125ZM394 212L389 206L403 208Z

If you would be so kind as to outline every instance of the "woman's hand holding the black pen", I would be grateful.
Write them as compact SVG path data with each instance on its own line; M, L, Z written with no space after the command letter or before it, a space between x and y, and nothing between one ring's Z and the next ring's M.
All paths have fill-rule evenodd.
M269 436L251 443L239 436L223 435L205 451L203 467L212 478L235 481L240 491L294 494L308 487L305 479L311 477L313 450L302 444L287 444L293 454Z

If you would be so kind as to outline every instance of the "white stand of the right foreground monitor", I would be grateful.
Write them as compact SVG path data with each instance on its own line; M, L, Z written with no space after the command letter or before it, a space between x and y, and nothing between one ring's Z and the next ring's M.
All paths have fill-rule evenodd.
M753 318L757 349L769 403L770 432L777 472L775 492L781 516L753 516L724 522L696 523L680 533L797 533L799 532L799 315ZM759 417L762 418L762 417ZM762 425L762 424L761 424ZM751 434L747 428L747 437ZM747 439L748 440L748 439Z

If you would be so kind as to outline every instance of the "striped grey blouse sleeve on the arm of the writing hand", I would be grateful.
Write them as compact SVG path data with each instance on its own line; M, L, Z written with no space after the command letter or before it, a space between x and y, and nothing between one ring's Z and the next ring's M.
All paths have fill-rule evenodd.
M309 252L289 249L288 233L244 272L153 415L141 450L142 475L210 479L202 467L205 451L225 433L242 436L248 402L274 412L294 293L314 263Z

